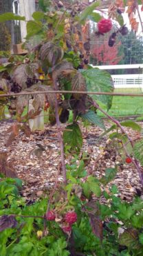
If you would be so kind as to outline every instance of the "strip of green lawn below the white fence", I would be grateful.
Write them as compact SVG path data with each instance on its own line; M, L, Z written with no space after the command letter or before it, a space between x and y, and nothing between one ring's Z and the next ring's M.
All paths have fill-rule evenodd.
M114 92L141 93L140 89L115 89ZM143 114L143 97L114 96L112 107L108 113L111 116L142 115Z

